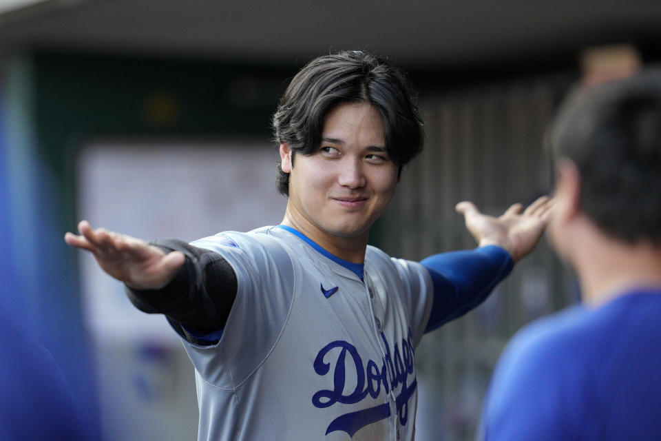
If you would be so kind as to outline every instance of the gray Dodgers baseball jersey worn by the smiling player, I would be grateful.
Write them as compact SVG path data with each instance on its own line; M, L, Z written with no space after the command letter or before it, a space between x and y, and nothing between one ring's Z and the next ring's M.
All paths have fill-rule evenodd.
M198 440L412 440L428 271L368 247L361 279L296 233L264 227L191 244L221 254L238 280L220 341L184 340Z

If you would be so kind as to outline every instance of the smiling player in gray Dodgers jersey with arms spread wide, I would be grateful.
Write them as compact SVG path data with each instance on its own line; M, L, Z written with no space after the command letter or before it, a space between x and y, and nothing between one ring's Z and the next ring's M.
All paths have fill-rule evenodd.
M150 244L83 221L65 240L182 337L199 440L412 440L422 335L486 298L537 243L552 203L500 218L461 203L481 247L390 258L368 232L423 140L403 74L364 52L319 57L273 126L280 225Z

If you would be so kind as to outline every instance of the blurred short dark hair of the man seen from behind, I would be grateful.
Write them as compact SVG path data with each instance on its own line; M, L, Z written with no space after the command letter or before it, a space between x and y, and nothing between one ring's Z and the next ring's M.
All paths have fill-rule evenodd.
M578 90L550 142L580 174L580 204L610 236L661 244L661 70Z

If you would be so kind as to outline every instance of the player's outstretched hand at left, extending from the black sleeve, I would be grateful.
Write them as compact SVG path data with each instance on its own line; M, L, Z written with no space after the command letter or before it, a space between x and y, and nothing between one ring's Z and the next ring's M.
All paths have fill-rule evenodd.
M80 236L67 232L64 241L94 254L103 271L133 289L165 287L185 261L182 252L165 254L145 240L105 228L92 229L87 220L78 223L78 232Z

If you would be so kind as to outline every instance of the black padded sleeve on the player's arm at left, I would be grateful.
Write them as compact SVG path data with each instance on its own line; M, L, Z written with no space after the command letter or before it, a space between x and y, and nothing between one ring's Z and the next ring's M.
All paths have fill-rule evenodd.
M237 289L236 275L227 260L182 240L157 240L152 245L166 253L182 252L185 263L162 289L138 291L125 286L129 300L140 311L165 314L170 320L200 331L222 329Z

